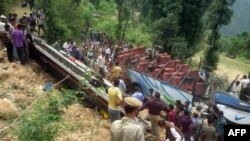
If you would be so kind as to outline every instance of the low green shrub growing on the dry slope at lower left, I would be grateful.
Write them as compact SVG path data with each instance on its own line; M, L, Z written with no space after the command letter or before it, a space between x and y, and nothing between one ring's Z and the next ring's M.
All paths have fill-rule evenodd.
M63 89L61 97L52 93L24 113L16 133L20 141L52 141L60 129L61 113L76 99L75 91Z

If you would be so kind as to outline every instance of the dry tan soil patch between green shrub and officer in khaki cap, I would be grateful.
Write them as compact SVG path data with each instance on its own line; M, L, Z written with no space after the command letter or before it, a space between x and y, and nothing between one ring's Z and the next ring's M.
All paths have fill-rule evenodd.
M55 141L108 141L110 123L92 109L73 104L64 111L62 136Z

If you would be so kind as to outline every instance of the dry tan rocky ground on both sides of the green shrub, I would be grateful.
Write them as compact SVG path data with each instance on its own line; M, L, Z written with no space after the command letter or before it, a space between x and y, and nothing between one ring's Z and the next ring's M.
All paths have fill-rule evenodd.
M26 66L18 62L8 63L6 52L0 46L0 130L44 94L42 87L45 83L57 81L35 61ZM64 110L62 128L55 141L106 141L109 140L109 128L108 120L104 120L95 110L75 103ZM2 140L17 139L5 130L0 132Z

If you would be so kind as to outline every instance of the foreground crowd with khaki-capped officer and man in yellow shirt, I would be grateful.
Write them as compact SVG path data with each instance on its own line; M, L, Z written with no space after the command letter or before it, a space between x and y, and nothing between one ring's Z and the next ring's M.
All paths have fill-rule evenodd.
M114 80L109 88L109 108L111 125L111 141L144 141L145 135L151 134L153 140L161 140L161 129L165 129L164 140L168 141L223 141L224 125L227 121L223 111L213 107L213 111L204 116L199 111L192 111L190 103L165 105L161 102L161 94L150 89L149 97L143 97L136 89L130 96L123 96L119 89L119 79ZM144 100L143 100L144 99ZM125 116L120 117L121 108ZM148 109L151 122L150 133L139 122L137 115Z

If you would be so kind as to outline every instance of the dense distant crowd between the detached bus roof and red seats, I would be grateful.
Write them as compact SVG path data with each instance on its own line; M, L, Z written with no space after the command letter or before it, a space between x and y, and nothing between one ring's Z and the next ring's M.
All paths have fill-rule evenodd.
M69 38L62 45L58 38L52 47L63 52L67 57L82 61L93 70L99 72L103 78L118 77L120 67L115 60L120 51L131 48L127 42L113 43L111 38L103 32L94 32L90 29L89 36L80 32L81 44L77 45L73 38ZM114 67L114 70L112 70ZM115 71L115 72L113 72Z

